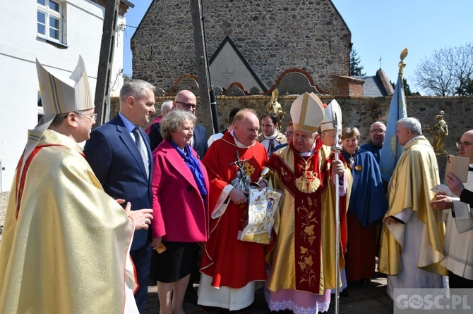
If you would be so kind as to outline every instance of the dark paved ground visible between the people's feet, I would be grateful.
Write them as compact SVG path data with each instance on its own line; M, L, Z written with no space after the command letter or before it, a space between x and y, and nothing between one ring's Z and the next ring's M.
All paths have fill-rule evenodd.
M347 288L349 296L340 296L340 313L342 314L388 314L393 313L393 301L386 294L386 278L376 272L369 284L363 286L350 285ZM190 301L184 301L184 310L187 314L204 313ZM160 313L160 302L157 297L157 288L149 287L148 303L145 314ZM266 304L263 289L256 291L256 299L250 314L270 313ZM289 314L290 311L279 312ZM335 313L335 302L332 299L328 313ZM316 314L316 313L314 313Z

